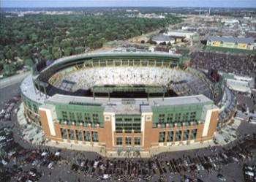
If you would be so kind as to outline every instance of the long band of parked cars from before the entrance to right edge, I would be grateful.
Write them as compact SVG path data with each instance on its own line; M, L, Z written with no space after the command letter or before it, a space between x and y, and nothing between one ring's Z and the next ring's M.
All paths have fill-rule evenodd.
M181 158L165 159L78 159L71 169L83 172L85 175L101 176L114 180L124 178L143 178L148 180L153 175L197 173L206 170L209 174L217 175L219 181L226 181L224 175L219 173L224 165L230 163L242 164L254 157L256 148L256 134L247 135L244 140L217 152L211 148L212 154L202 156L183 156ZM197 181L202 179L197 179Z

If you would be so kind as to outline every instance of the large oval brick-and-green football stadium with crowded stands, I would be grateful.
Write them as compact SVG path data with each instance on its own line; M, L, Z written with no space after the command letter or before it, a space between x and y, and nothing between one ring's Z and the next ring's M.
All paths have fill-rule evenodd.
M206 143L234 108L227 88L169 53L40 62L20 89L26 119L47 140L106 153Z

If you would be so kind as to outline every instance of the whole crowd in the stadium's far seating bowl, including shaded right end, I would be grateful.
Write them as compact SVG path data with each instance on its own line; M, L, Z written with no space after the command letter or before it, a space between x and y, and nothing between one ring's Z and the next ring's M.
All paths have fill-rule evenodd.
M204 94L212 98L211 82L194 69L165 67L97 67L70 70L53 83L65 91L88 90L93 86L164 86L179 96Z

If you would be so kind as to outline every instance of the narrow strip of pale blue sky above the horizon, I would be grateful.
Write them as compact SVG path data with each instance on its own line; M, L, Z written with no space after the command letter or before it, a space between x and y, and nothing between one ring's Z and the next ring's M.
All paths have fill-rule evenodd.
M0 0L0 7L256 7L256 0Z

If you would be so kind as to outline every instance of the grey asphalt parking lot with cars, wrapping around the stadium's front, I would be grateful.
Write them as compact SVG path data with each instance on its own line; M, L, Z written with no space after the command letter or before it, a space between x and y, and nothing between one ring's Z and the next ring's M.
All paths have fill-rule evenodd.
M1 89L0 108L11 118L0 121L0 181L234 182L244 181L244 164L256 162L256 126L246 122L238 127L236 140L225 147L161 153L151 159L106 159L92 152L31 145L22 139L15 118L18 85L11 88Z

